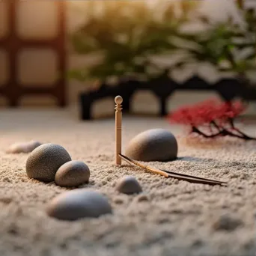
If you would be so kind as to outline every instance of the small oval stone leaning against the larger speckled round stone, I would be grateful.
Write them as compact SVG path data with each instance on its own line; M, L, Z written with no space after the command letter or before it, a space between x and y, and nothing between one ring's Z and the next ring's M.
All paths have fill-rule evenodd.
M55 174L55 183L58 186L79 186L88 183L90 169L81 161L70 161L61 165Z

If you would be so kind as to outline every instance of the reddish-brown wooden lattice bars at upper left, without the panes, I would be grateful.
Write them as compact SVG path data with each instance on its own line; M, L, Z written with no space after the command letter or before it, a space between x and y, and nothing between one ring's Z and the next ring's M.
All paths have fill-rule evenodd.
M0 94L7 98L11 107L19 106L19 100L24 95L50 95L56 98L58 106L66 106L66 54L65 54L65 4L64 1L54 1L58 7L58 36L52 40L22 40L16 34L16 1L8 1L9 34L0 39L0 47L7 52L10 78L0 87ZM54 50L58 58L58 72L61 76L49 88L37 85L36 88L26 88L18 81L16 59L24 48L48 48Z

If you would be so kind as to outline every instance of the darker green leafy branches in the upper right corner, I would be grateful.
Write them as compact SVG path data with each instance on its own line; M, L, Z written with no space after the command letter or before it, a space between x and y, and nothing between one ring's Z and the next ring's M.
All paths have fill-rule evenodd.
M226 22L211 23L205 16L200 16L199 19L207 24L207 30L181 36L191 43L197 43L196 49L189 50L190 56L197 61L208 61L220 71L237 73L238 76L255 70L256 14L243 8L240 15L243 19L240 25L232 17ZM183 60L180 65L186 64L186 61L189 60Z

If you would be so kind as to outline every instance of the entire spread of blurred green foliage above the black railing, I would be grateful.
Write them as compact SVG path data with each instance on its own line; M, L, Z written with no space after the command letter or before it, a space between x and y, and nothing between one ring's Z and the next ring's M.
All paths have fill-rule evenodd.
M249 51L256 46L256 16L252 10L240 9L244 25L237 25L232 17L227 22L212 23L206 16L198 16L207 29L191 34L180 28L192 20L191 14L197 10L199 1L180 1L180 16L174 11L177 2L173 1L159 0L154 7L147 1L86 1L85 4L87 19L70 34L70 42L76 53L100 52L103 60L70 70L72 79L104 81L122 76L152 79L166 73L166 67L157 67L150 56L174 50L187 53L187 58L177 62L178 67L189 61L208 61L219 70L239 74L255 68L255 50ZM175 43L175 37L185 43ZM238 58L241 52L244 58Z

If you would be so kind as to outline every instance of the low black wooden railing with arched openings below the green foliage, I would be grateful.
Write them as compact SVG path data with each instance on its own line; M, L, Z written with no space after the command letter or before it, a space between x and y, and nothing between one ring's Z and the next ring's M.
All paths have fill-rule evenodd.
M123 97L123 112L129 113L132 97L136 91L150 91L156 96L159 103L159 116L168 115L167 101L175 91L213 91L225 101L234 100L236 97L248 102L256 100L255 86L235 78L221 79L213 84L201 79L199 76L192 76L192 78L183 83L177 83L170 78L155 79L150 82L127 80L126 82L120 82L115 87L103 84L96 91L80 94L80 118L82 120L93 119L91 109L94 103L106 97L114 99L115 95Z

